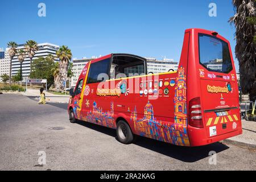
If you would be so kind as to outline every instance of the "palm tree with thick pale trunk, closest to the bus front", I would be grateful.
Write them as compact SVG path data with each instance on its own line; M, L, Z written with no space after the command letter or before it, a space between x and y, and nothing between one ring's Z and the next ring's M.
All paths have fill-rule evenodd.
M60 59L59 61L59 76L60 78L57 80L55 87L59 92L60 89L64 90L63 82L68 79L68 65L69 61L72 58L71 49L68 46L61 46L60 49L56 52L57 57Z

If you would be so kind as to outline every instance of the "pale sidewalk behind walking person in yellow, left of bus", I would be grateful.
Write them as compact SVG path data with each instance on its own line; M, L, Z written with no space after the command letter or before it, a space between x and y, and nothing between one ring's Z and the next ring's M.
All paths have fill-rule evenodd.
M68 103L70 96L67 95L57 95L57 94L52 94L49 92L44 92L46 94L46 102L49 103ZM39 90L33 90L33 89L27 89L26 92L22 93L24 96L28 97L38 97L39 96Z

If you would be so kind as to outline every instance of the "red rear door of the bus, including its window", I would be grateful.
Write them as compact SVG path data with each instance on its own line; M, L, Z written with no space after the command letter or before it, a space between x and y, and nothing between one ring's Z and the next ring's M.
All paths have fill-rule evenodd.
M208 34L198 38L201 111L210 138L241 129L238 84L228 41Z

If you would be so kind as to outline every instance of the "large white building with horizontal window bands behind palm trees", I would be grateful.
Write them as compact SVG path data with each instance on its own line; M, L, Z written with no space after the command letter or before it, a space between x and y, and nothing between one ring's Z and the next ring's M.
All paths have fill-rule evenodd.
M59 46L51 43L38 44L38 51L35 52L35 56L33 57L32 60L38 59L38 57L46 57L47 55L50 55L50 54L52 54L53 56L56 56L56 52L57 50L59 50L59 48L60 48ZM18 50L24 49L24 44L19 45L17 49ZM25 55L25 56L26 58L22 63L22 76L28 77L30 75L30 58L28 57L28 55ZM57 58L56 58L56 61L58 61ZM19 69L20 69L20 63L18 60L18 56L14 56L14 59L11 65L11 74L16 75Z

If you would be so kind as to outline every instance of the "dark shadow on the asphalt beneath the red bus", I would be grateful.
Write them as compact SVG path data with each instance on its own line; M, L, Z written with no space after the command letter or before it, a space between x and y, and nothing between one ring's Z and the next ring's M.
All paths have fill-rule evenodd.
M77 121L77 123L117 139L114 129L109 129L104 126L94 125L93 123L84 121ZM209 152L211 151L214 151L216 154L218 154L219 152L225 151L229 148L225 144L219 142L200 147L182 147L140 136L137 136L137 139L133 144L147 148L148 150L158 152L159 154L169 156L170 158L188 163L197 162L198 160L209 157Z

